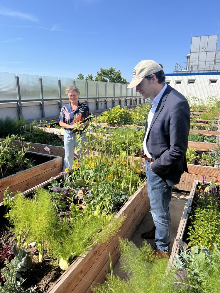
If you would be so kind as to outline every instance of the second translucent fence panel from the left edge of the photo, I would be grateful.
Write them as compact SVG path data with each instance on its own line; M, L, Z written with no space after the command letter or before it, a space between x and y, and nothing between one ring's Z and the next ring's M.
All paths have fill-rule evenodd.
M18 73L21 100L40 100L39 75Z

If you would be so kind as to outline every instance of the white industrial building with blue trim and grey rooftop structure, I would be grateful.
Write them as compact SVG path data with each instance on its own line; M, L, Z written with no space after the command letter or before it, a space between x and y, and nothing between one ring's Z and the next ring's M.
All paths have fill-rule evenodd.
M174 73L165 74L166 83L184 96L220 100L220 51L216 49L217 35L192 37L187 62L176 63Z

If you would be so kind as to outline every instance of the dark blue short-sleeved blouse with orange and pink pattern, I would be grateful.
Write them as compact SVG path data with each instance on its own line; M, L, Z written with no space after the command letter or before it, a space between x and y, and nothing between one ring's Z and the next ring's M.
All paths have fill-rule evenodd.
M71 104L67 104L62 107L60 112L59 121L73 125L76 122L82 121L82 123L89 121L91 113L89 107L86 104L80 103L78 101L78 107L74 111L71 108ZM80 131L80 134L84 132L86 127L83 127L83 130ZM77 130L68 129L68 133L74 133Z

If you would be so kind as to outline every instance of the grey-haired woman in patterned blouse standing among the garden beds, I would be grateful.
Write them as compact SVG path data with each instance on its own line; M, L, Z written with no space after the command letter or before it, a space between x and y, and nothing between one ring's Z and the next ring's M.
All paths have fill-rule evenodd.
M85 128L89 125L90 121L90 110L86 104L80 103L79 98L79 89L72 84L66 88L65 94L68 96L70 103L63 106L60 112L60 127L65 128L64 133L64 147L65 147L65 158L63 171L67 167L72 168L74 160L74 151L75 147L77 148L82 143L87 144L87 138L85 137L86 132ZM81 122L78 129L76 129L76 122ZM83 130L81 130L83 128ZM80 130L79 130L80 129ZM81 143L76 141L76 132L80 132ZM79 158L82 159L81 150L77 151Z

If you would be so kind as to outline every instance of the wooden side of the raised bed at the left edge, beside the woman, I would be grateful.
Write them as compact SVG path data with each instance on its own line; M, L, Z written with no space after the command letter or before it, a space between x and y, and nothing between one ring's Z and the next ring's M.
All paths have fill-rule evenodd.
M62 172L62 158L27 151L26 156L36 160L37 166L0 179L0 202L3 201L4 191L10 186L9 192L21 192L57 176Z

